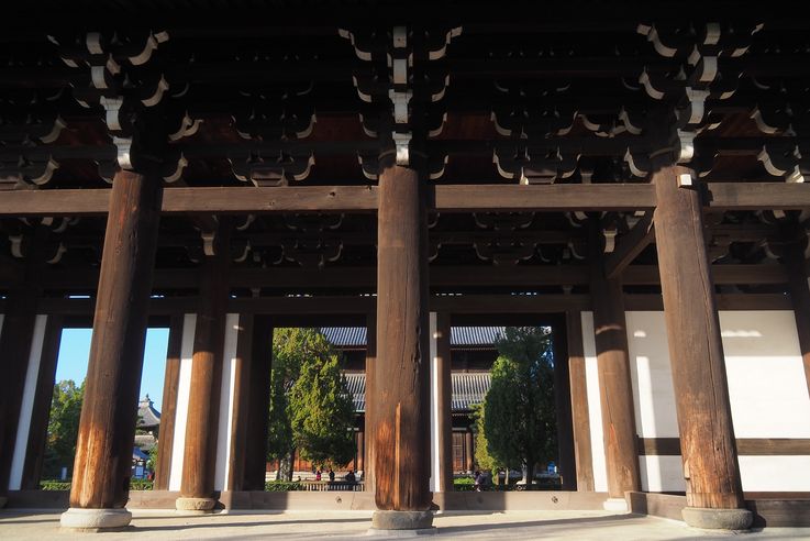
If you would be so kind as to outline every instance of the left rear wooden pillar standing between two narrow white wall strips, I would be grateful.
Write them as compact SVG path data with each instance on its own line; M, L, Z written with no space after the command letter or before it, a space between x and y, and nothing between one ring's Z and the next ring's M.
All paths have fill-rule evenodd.
M206 256L200 273L182 481L176 501L179 510L210 511L217 503L213 490L228 316L229 236L222 223L214 238L213 255Z

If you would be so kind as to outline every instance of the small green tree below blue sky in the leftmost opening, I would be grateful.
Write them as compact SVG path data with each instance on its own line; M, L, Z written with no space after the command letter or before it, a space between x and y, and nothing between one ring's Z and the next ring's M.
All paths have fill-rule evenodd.
M67 467L68 477L71 476L84 397L84 383L77 387L73 379L67 379L54 385L43 464L44 478L59 478L63 467Z

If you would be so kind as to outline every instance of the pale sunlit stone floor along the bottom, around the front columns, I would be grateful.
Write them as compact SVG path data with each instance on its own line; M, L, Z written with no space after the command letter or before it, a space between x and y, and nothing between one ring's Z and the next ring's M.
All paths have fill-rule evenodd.
M134 512L132 526L126 531L103 533L100 539L356 539L366 537L369 518L368 511L251 512L190 517L170 511L138 510ZM437 527L437 534L428 539L686 540L728 539L734 536L744 536L746 540L810 539L810 528L768 528L743 534L707 533L674 520L602 511L450 512L436 516L434 525ZM0 541L87 539L92 536L59 530L58 514L0 511Z

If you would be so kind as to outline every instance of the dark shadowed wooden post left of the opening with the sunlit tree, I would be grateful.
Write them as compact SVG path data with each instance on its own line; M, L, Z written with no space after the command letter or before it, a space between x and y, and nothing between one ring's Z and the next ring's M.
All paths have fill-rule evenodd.
M267 470L267 430L273 368L273 321L268 316L253 318L253 349L247 384L247 430L244 435L245 471L243 490L264 490Z

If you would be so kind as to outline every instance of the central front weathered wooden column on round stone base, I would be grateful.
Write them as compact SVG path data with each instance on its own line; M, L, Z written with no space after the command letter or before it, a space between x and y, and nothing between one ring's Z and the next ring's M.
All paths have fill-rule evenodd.
M428 224L423 181L388 163L379 176L377 366L374 371L374 528L419 529L432 522Z

